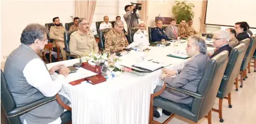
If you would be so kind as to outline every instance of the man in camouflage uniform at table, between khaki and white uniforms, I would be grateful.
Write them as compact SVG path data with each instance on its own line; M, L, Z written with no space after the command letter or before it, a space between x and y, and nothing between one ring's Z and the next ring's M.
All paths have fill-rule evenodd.
M123 50L129 45L124 32L124 22L121 20L115 21L115 26L112 30L106 33L105 37L105 49L110 49L110 51Z

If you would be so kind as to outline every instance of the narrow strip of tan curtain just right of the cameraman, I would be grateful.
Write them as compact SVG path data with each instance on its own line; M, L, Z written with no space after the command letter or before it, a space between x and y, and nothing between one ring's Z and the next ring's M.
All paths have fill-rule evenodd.
M148 0L138 1L141 4L140 19L145 22L147 26Z

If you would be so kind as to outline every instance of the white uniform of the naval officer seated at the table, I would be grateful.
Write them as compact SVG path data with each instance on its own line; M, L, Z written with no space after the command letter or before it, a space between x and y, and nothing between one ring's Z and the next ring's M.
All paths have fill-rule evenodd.
M143 43L143 46L150 45L148 41L148 32L144 30L143 32L139 29L135 34L133 35L133 42L128 45L127 48L131 47L137 47L140 43Z

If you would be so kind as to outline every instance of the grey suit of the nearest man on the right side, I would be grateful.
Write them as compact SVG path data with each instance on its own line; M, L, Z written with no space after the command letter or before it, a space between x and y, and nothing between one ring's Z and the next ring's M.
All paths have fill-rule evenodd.
M208 60L207 54L198 54L188 61L182 70L178 70L179 74L176 77L166 77L165 83L170 84L172 87L181 87L191 92L197 92L198 84L204 74L204 68L206 68ZM159 91L161 88L162 86L157 86L155 91ZM173 102L187 105L190 105L193 100L191 96L169 88L166 88L160 96Z

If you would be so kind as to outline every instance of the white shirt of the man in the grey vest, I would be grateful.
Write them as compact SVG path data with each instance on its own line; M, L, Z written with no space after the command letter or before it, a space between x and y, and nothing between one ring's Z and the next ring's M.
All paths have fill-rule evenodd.
M58 75L56 80L52 81L49 71L39 58L29 61L24 67L23 74L26 77L27 83L38 89L46 97L55 96L61 90L62 83L65 81L65 77L61 74ZM26 124L26 120L23 123ZM61 123L61 118L56 119L52 123Z

